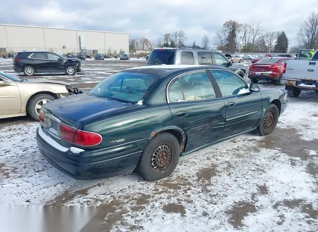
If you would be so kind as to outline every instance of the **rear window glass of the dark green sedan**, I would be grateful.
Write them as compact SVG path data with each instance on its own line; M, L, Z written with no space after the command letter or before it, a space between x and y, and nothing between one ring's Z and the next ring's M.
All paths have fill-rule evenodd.
M136 104L144 98L157 78L155 75L145 73L116 73L92 88L88 95Z

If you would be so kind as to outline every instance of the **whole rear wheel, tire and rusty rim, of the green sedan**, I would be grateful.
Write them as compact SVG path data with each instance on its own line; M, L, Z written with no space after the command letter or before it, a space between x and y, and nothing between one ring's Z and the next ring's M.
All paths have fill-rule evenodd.
M179 157L178 140L170 133L161 132L146 145L136 170L146 180L159 180L174 171Z

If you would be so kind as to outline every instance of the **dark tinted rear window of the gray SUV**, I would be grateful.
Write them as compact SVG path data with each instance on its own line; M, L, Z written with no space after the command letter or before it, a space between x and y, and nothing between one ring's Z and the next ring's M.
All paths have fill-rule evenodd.
M147 64L173 64L174 54L175 50L172 49L154 50L150 54Z

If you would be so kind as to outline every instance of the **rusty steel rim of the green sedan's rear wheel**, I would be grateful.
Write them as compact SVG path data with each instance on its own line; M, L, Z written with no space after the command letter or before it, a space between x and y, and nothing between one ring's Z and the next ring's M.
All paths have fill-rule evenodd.
M171 163L171 147L167 144L160 144L151 156L151 166L156 171L163 171Z

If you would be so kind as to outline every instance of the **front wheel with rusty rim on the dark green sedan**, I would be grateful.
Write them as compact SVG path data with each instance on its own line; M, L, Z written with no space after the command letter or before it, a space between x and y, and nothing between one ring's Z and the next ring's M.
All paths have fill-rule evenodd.
M261 136L270 134L276 127L279 117L279 111L276 105L270 104L260 119L260 123L255 129L255 133Z

